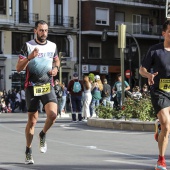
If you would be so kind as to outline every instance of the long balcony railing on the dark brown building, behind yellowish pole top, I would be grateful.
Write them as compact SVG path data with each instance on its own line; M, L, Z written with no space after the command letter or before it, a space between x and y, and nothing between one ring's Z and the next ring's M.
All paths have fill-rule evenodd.
M144 34L144 35L161 35L162 25L153 25L131 22L122 23L121 21L115 21L115 30L118 30L118 25L125 24L127 32L131 34Z

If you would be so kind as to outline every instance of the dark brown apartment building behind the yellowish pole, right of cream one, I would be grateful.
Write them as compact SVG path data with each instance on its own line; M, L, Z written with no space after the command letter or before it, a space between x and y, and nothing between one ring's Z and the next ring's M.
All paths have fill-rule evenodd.
M165 3L165 0L82 0L82 73L100 74L111 85L114 83L116 74L121 71L118 25L125 24L125 71L130 69L132 74L130 80L125 78L131 86L144 83L138 69L148 48L163 40ZM108 31L105 42L101 41L104 29Z

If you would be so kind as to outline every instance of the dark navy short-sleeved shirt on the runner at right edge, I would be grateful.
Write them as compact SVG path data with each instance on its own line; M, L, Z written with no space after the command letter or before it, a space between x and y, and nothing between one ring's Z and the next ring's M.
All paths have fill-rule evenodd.
M153 45L142 61L142 67L145 67L148 72L151 68L153 73L158 72L158 75L154 78L155 89L159 88L160 79L170 78L170 51L164 48L163 43Z

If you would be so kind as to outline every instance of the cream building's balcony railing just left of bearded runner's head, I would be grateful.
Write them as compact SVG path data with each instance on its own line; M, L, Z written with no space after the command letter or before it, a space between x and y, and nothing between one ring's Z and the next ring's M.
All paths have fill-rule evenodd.
M27 23L27 24L34 24L36 21L39 20L39 14L35 13L14 13L14 22L15 24L18 23Z

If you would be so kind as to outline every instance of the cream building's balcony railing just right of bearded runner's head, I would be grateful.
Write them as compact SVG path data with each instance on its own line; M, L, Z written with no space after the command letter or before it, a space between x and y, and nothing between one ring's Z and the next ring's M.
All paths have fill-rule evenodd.
M69 16L48 15L47 21L50 26L74 27L74 18Z

